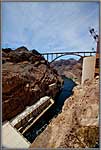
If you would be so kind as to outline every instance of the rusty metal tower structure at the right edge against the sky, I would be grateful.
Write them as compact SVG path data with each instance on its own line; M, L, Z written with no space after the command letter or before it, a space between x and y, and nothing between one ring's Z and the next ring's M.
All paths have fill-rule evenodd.
M99 59L100 59L100 42L99 42L99 35L96 34L94 28L89 29L90 34L92 35L93 39L97 43L96 47L96 63L95 63L95 76L99 75Z

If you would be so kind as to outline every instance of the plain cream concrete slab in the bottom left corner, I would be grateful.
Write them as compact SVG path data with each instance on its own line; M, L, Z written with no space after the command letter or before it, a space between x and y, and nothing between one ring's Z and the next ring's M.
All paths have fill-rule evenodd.
M29 148L31 143L27 141L10 122L2 127L2 146L5 148Z

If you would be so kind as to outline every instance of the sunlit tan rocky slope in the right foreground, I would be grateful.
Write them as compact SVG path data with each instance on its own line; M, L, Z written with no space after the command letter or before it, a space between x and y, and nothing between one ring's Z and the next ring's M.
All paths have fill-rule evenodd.
M31 148L94 148L99 136L99 79L76 86L62 112L30 146Z

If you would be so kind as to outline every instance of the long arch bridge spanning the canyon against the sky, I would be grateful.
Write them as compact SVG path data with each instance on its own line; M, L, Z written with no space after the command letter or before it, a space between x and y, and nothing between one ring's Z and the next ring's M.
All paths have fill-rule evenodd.
M82 51L82 52L52 52L52 53L42 53L42 55L47 59L47 61L50 60L50 63L54 62L56 59L65 56L65 55L76 55L81 58L92 56L95 54L96 51Z

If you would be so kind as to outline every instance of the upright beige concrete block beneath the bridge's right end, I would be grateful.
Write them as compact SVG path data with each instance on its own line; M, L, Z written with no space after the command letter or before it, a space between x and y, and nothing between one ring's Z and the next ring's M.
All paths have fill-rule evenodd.
M89 56L89 57L83 58L81 84L83 84L84 81L87 80L87 79L89 79L89 80L94 79L95 62L96 62L96 57L95 56Z

